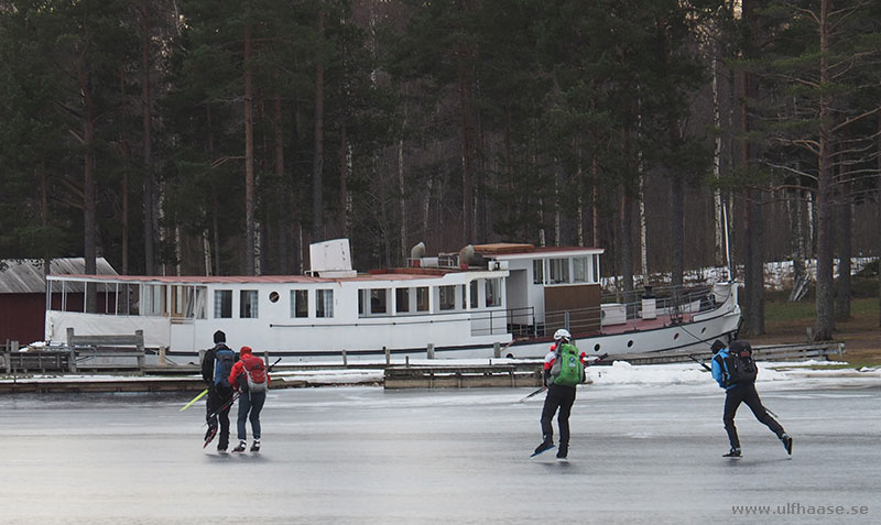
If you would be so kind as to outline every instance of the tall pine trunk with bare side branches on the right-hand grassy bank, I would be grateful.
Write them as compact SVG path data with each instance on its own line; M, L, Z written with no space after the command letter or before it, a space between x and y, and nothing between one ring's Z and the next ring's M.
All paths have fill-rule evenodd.
M819 18L819 81L828 86L828 15L829 0L820 2ZM833 172L831 165L831 100L829 95L819 97L819 166L817 181L817 319L814 326L815 341L829 341L835 329L835 306L833 291Z

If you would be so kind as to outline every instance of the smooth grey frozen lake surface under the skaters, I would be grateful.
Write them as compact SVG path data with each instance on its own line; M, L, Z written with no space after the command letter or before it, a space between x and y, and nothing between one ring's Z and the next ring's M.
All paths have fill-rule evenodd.
M272 391L263 451L236 456L203 450L191 395L7 395L0 523L879 523L881 381L758 389L791 458L746 406L722 458L708 381L580 386L568 463L530 459L530 389Z

